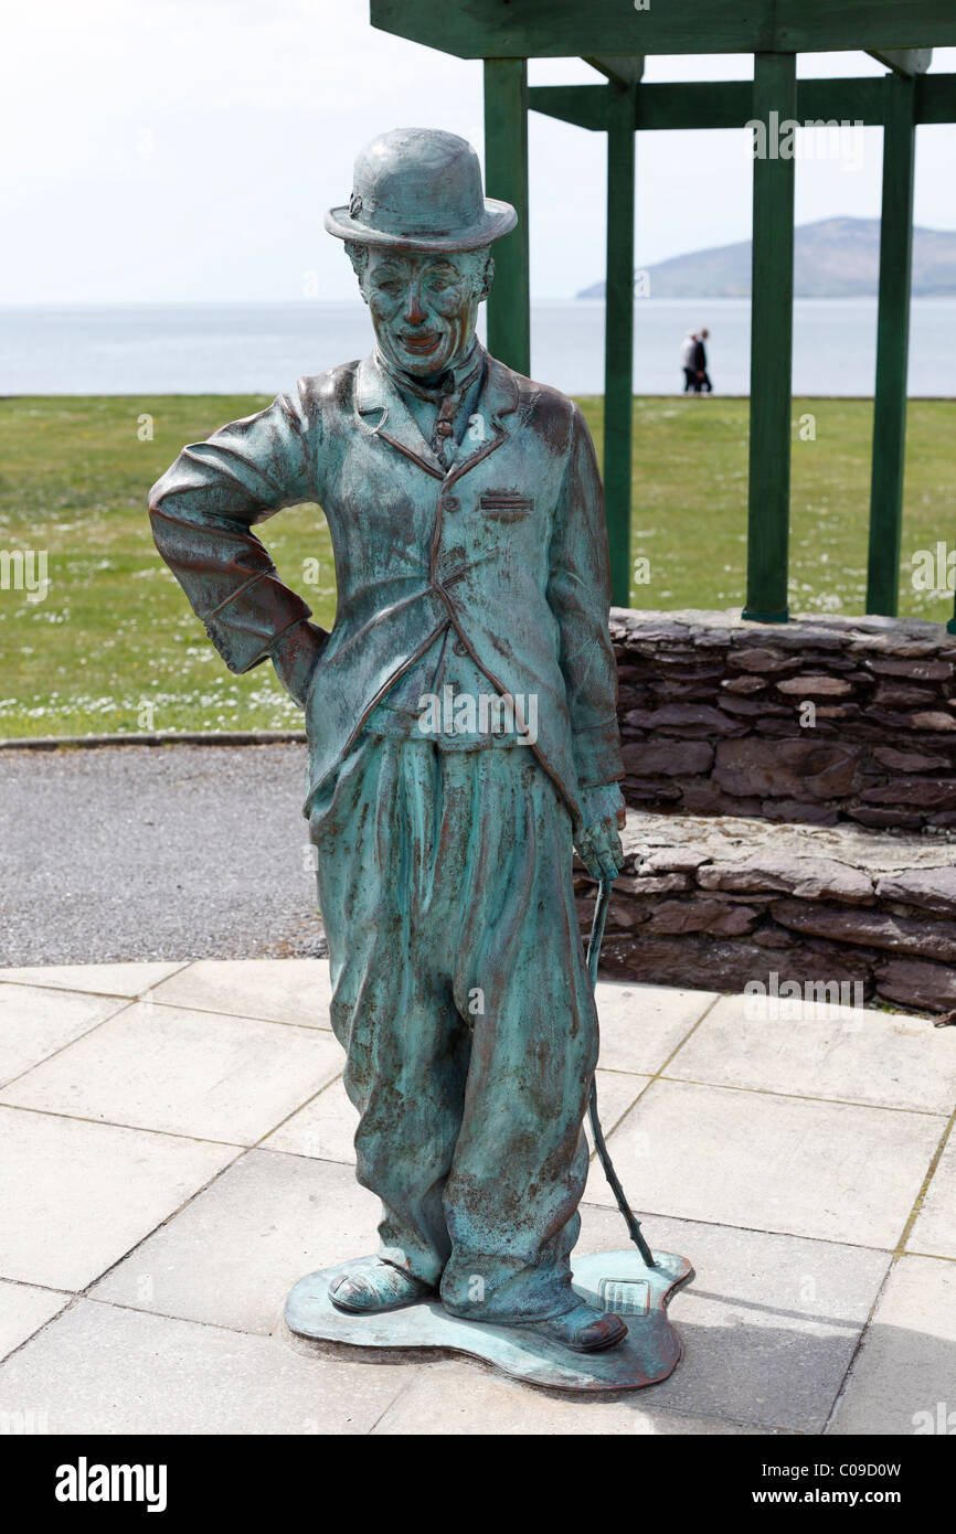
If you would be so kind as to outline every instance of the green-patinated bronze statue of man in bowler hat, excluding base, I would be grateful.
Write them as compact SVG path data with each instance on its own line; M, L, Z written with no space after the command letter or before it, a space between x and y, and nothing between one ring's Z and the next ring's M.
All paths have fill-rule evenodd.
M582 413L476 337L516 221L462 138L373 140L325 227L374 351L186 448L150 517L229 669L272 660L305 710L331 1023L382 1201L333 1304L437 1296L597 1351L626 1325L571 1287L597 1063L572 845L615 876L608 543ZM331 532L331 634L252 531L299 502Z

